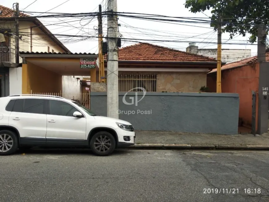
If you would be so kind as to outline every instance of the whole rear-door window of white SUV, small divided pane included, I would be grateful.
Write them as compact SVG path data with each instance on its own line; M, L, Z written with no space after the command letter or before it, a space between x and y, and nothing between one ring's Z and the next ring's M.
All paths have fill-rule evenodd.
M17 99L13 112L43 114L44 102L44 99Z

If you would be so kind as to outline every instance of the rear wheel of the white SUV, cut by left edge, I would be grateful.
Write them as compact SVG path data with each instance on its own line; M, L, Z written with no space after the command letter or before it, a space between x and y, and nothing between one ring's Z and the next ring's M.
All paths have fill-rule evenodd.
M18 149L18 138L10 130L0 131L0 155L6 156L16 152Z

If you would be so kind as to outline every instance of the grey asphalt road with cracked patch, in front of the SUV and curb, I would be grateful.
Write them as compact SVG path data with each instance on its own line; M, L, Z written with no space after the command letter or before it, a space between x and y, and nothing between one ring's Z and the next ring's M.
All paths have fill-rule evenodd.
M31 151L0 159L0 202L269 201L266 151Z

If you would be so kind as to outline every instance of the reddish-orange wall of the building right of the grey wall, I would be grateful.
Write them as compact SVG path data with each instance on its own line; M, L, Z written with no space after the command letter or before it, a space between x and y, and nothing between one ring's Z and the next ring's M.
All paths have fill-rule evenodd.
M207 86L210 92L216 92L216 73L207 74ZM242 118L244 125L251 126L252 90L258 92L258 86L259 64L250 64L221 71L221 92L239 94L239 117ZM258 115L257 106L258 99L256 101L256 117Z

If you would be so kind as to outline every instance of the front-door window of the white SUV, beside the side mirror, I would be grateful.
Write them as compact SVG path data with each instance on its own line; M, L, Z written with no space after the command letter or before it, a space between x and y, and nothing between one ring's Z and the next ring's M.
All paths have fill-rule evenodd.
M69 103L60 100L49 100L49 112L51 115L73 116L78 110Z

